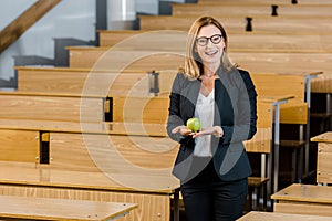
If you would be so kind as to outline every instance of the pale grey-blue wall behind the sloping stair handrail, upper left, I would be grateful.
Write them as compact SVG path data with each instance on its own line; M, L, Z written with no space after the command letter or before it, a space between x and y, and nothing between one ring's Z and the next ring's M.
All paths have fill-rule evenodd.
M0 30L6 28L35 1L1 0ZM77 40L76 44L97 41L96 30L106 29L107 27L107 22L103 21L107 19L105 18L107 17L106 13L110 13L110 10L105 9L107 8L106 1L108 1L110 6L112 0L63 0L60 2L21 35L17 42L0 54L0 87L17 86L13 66L18 61L24 60L28 61L28 64L35 61L35 63L42 62L44 64L59 65L59 62L56 62L59 60L56 57L59 49L55 49L55 45L62 45L56 43L61 39ZM126 1L131 2L131 0ZM137 13L159 14L160 11L169 13L169 2L184 3L190 1L195 0L137 0L134 3ZM30 60L27 57L30 57ZM62 61L66 60L63 55L61 59ZM56 61L54 62L53 60Z

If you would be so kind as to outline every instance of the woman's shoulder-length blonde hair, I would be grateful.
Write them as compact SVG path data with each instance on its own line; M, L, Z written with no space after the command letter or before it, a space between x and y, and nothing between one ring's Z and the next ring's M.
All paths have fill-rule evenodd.
M187 38L185 67L179 69L179 72L184 73L188 78L195 80L198 78L201 74L203 64L200 62L200 57L198 53L195 51L196 38L200 29L209 24L217 27L220 30L221 35L225 40L225 49L220 61L221 69L225 71L230 71L231 69L235 67L235 65L230 62L228 57L228 53L227 53L228 38L224 27L216 19L211 17L200 17L191 24Z

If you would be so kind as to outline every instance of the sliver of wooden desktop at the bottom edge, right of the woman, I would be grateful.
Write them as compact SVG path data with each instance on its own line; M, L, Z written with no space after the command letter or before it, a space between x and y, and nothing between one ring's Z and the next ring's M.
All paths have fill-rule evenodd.
M238 219L238 221L294 221L294 220L310 220L310 221L329 221L331 218L319 215L305 215L305 214L287 214L279 212L256 212L251 211L246 215Z

